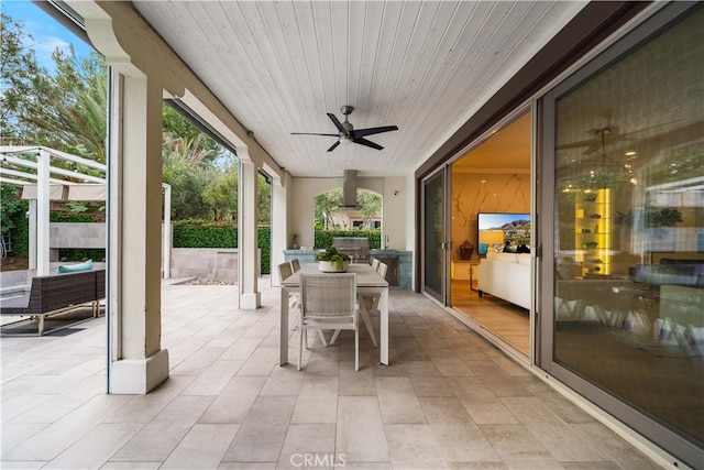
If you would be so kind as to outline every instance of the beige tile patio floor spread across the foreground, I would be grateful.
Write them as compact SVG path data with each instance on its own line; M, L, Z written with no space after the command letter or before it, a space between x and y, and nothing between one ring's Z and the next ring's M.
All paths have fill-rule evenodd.
M361 332L360 372L344 334L298 372L268 278L256 311L169 282L170 378L148 395L103 393L103 319L2 338L2 469L659 468L421 295L392 292L389 367Z

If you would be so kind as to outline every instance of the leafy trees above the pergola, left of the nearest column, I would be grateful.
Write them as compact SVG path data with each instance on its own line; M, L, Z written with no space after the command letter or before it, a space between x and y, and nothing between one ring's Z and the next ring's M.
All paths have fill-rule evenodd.
M33 37L23 24L2 14L2 125L3 141L45 145L106 161L108 79L105 59L92 52L76 57L52 53L56 73L37 65Z

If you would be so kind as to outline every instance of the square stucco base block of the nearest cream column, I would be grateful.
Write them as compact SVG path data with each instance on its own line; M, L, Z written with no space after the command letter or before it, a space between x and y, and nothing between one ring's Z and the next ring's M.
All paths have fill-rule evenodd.
M162 349L146 359L122 359L110 369L110 393L144 395L168 379L168 350Z

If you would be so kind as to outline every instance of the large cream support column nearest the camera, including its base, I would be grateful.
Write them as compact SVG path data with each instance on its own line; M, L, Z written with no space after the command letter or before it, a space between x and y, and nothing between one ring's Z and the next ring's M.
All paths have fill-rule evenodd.
M110 260L120 263L114 394L144 394L168 378L168 351L161 347L162 92L150 77L123 79L119 240Z

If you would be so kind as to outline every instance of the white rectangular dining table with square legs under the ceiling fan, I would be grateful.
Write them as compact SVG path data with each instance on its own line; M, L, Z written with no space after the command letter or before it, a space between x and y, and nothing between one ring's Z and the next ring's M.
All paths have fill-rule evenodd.
M366 310L365 296L378 297L377 308L381 313L380 362L388 365L388 282L369 264L350 264L349 273L356 273L356 292L360 308ZM286 280L282 281L282 318L280 318L280 365L288 363L288 297L300 291L300 274L321 274L318 263L305 264Z

